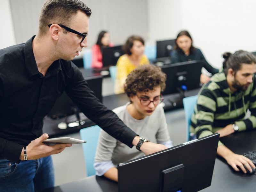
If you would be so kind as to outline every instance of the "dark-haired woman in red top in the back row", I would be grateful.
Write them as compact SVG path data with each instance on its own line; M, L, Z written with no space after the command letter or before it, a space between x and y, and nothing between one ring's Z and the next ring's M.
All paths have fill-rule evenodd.
M109 33L100 31L96 44L92 46L92 68L102 68L102 49L104 47L113 47L113 44L109 43Z

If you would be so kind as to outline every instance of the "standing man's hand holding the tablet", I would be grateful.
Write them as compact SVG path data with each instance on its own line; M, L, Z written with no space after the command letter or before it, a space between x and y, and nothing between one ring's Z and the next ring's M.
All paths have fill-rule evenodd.
M71 144L56 144L48 146L42 143L48 139L48 134L44 133L41 137L31 141L26 150L28 160L35 160L49 155L57 154L63 151L66 147L72 146ZM24 150L22 149L20 154L20 160L24 160Z

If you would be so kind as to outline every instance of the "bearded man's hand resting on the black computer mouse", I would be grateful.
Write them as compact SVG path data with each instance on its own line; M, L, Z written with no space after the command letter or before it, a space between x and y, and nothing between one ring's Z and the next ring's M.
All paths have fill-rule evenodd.
M227 163L235 170L239 171L237 168L240 167L240 169L246 173L246 170L244 166L248 169L249 172L252 171L252 168L255 169L255 165L252 163L252 161L248 158L246 158L243 155L238 155L230 151L227 147L224 145L218 146L217 154L222 156L224 159L226 159ZM252 168L251 168L252 167Z

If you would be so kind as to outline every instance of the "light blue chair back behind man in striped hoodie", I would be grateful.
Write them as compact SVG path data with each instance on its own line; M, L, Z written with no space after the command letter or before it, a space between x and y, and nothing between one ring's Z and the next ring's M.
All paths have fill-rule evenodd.
M189 126L190 126L190 119L192 114L194 113L194 108L197 101L197 95L186 97L183 99L183 106L185 111L185 118L186 118L186 128L187 128L187 141L189 141Z

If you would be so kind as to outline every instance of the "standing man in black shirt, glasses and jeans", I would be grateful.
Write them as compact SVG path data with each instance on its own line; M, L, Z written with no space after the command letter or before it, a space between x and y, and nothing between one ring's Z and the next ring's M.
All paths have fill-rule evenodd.
M145 154L166 148L143 143L95 97L70 62L87 46L90 15L80 0L48 0L37 35L0 50L0 191L54 186L50 155L71 145L44 145L48 135L42 134L42 127L44 116L64 91L88 118L129 147L135 145Z

